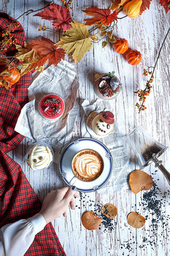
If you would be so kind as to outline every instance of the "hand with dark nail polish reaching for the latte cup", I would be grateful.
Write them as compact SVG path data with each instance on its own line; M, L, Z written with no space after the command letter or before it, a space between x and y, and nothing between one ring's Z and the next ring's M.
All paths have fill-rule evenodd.
M45 218L46 224L61 217L62 214L66 217L69 204L71 209L74 209L73 196L79 197L79 193L75 189L74 186L73 188L65 187L53 190L45 197L39 213Z

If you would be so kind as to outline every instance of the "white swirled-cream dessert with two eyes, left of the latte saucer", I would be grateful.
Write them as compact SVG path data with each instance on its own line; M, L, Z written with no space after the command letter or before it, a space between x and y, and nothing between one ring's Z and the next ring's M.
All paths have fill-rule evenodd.
M32 147L28 151L28 154L29 158L27 159L27 163L32 170L44 169L48 167L53 160L53 155L49 147L41 146L40 144Z

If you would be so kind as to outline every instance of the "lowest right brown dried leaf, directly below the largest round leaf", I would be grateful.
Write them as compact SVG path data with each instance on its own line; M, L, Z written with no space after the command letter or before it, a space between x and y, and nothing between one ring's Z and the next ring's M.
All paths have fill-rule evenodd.
M135 229L142 228L145 225L145 218L137 212L130 212L127 217L128 224Z

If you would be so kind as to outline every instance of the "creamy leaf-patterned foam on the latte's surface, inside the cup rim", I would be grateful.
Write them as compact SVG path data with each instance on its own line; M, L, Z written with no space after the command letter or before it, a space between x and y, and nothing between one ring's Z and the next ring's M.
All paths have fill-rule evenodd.
M83 154L76 158L75 169L80 176L92 179L101 171L101 162L95 155Z

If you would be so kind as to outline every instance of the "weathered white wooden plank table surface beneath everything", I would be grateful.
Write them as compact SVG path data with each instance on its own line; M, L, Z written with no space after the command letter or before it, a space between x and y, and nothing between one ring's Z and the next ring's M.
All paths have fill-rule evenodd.
M61 1L54 2L61 3ZM0 9L6 11L7 14L14 18L18 18L24 11L29 9L37 10L48 5L48 3L48 1L41 0L4 0L0 2ZM109 0L75 0L73 2L73 10L71 10L71 17L83 23L86 14L81 10L85 10L91 6L108 8L110 5L111 1ZM57 43L59 36L61 36L59 32L56 31L53 34L53 32L38 31L39 25L42 26L45 24L46 27L52 28L52 22L42 20L40 17L33 16L33 14L24 15L19 19L25 30L26 41L31 42L33 39L40 39L41 36L45 36ZM165 10L159 5L158 1L152 0L150 10L145 11L145 13L135 19L126 17L118 20L114 30L116 36L128 40L131 49L138 49L142 53L142 61L139 65L129 65L122 55L113 51L110 44L101 49L101 42L94 44L94 47L76 65L77 77L80 84L78 91L79 102L82 102L82 99L88 99L90 101L96 99L93 89L95 72L107 73L109 71L115 71L116 76L120 77L122 82L122 92L112 101L112 104L117 125L122 136L128 134L135 126L141 125L152 137L166 146L170 146L170 35L168 35L158 60L153 89L150 96L147 97L145 104L147 110L141 114L138 114L135 108L137 97L133 96L133 91L144 88L147 79L142 76L143 68L155 64L156 56L158 55L164 36L168 31L169 23L169 13L165 14ZM66 60L74 64L74 61L70 57L66 57ZM75 134L78 134L80 137L79 124L74 130ZM43 201L49 191L61 188L65 184L59 176L57 164L53 164L46 170L35 172L25 164L23 156L27 150L28 141L25 138L19 144L18 148L11 151L9 155L23 168L29 183L40 200ZM165 168L169 169L169 150L160 156L160 159L163 160ZM154 164L145 169L148 174L154 174L152 177L160 188L158 200L161 200L161 193L168 192L169 185L162 173L160 171L155 172L155 170ZM168 214L170 212L169 196L165 194L166 197L162 200L165 201L165 204L162 205L164 220L158 222L158 230L156 231L158 236L155 236L151 226L152 218L155 218L155 215L151 216L148 210L143 209L141 204L142 195L143 192L135 195L129 189L116 192L113 195L100 195L97 192L92 192L86 195L83 194L84 199L82 200L76 199L76 205L78 206L75 207L75 210L68 210L66 218L61 217L53 222L66 254L68 256L170 255L169 230L167 225ZM112 232L104 232L104 226L102 225L100 229L94 231L86 230L82 226L81 216L86 210L95 209L94 202L99 204L113 203L116 205L118 214L113 222L116 221L117 224L114 224L114 230ZM143 228L134 229L128 225L126 217L131 211L137 211L144 217L149 216ZM155 244L151 243L150 245L149 242L143 242L145 237L147 240L154 240ZM127 249L128 247L130 249Z

